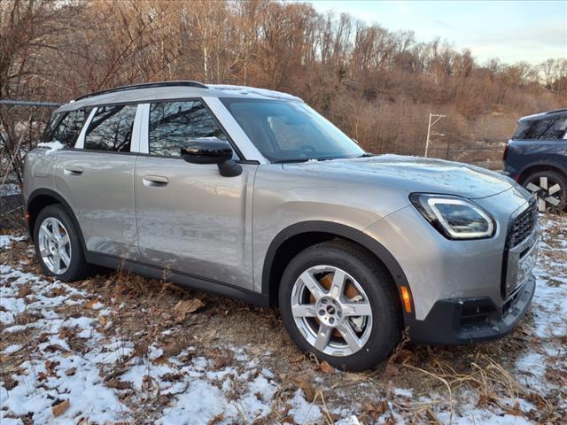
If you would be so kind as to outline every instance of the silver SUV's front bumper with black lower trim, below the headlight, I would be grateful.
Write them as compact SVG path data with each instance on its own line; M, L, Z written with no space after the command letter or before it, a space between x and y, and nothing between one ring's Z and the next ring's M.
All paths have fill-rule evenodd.
M412 207L367 229L383 242L407 277L413 308L404 313L404 321L411 339L469 344L512 331L535 290L532 268L540 227L536 222L527 236L516 227L516 222L524 223L520 218L529 201L517 185L476 199L496 222L494 236L486 239L448 240Z

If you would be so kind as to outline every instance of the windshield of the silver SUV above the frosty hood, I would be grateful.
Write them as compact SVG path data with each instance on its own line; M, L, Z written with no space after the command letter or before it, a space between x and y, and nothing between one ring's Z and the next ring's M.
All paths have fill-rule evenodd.
M221 101L272 162L357 158L365 153L307 104L234 97Z

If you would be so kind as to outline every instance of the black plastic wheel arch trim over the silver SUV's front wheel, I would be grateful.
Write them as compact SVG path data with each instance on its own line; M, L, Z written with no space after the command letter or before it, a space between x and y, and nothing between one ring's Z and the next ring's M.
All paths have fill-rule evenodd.
M392 276L397 287L401 303L401 290L405 286L409 290L408 278L400 263L392 256L382 243L366 235L361 230L344 224L330 221L303 221L284 228L270 243L264 266L262 268L262 294L268 296L269 304L277 305L277 292L283 270L290 260L307 247L330 239L340 238L354 243L377 259ZM415 308L412 298L412 313L406 313L400 304L404 317L414 317Z

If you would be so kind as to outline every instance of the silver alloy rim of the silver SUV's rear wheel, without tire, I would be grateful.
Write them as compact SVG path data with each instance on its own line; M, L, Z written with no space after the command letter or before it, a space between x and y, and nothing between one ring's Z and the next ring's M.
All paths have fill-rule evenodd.
M63 223L55 217L43 220L38 233L43 263L52 274L64 274L71 264L71 241Z

